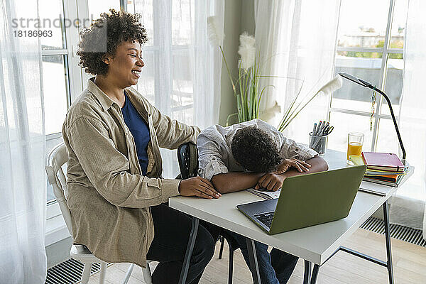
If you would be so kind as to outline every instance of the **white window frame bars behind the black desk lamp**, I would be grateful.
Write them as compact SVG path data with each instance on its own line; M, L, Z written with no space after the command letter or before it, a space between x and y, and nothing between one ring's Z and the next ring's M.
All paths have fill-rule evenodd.
M385 34L385 42L383 44L383 48L354 48L354 47L339 47L337 46L337 40L336 40L336 51L334 53L334 56L337 55L337 52L339 51L355 51L355 52L368 52L368 53L382 53L381 58L381 69L380 69L380 77L378 80L378 89L383 89L383 86L386 84L386 73L388 70L388 55L389 54L403 54L405 46L403 48L389 48L390 42L391 42L391 32L392 32L392 21L393 21L393 11L395 9L395 0L389 1L389 9L388 9L388 23L386 25L386 34ZM336 60L334 60L334 75L336 70ZM327 121L330 120L330 116L332 112L334 113L343 113L343 114L354 114L359 116L370 116L369 112L366 111L356 111L351 109L340 109L336 107L332 107L332 97L329 96L329 103L327 106ZM383 96L380 94L377 97L376 100L376 110L373 114L374 124L373 124L373 136L371 139L371 146L370 151L375 151L377 146L377 140L378 140L378 127L379 127L379 121L381 119L389 119L392 120L392 117L390 114L381 114L381 106L382 104L386 104L383 102ZM401 104L400 104L401 107ZM399 123L399 116L398 114L395 114L395 119L397 123Z

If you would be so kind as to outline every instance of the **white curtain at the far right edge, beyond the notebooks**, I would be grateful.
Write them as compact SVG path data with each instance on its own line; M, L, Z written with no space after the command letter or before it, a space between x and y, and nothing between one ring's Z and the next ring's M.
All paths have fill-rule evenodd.
M410 0L405 37L403 96L400 102L400 131L407 161L415 166L413 176L391 202L391 222L423 227L426 239L426 2Z

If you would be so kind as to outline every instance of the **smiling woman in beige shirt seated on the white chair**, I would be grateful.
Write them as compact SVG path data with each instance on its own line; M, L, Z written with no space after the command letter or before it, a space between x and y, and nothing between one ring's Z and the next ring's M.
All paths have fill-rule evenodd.
M153 282L178 283L192 220L164 203L176 195L220 194L204 178L161 177L159 148L195 143L200 129L164 116L131 87L145 65L146 30L138 15L110 11L81 34L80 65L95 77L72 103L62 130L72 236L103 261L159 261ZM200 226L188 283L198 283L213 253L214 240Z

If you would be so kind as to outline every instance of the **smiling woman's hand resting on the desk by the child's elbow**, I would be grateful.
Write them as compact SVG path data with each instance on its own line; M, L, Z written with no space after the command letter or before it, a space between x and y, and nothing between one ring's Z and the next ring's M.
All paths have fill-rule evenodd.
M179 192L182 196L198 196L208 200L222 196L214 189L212 182L201 177L181 180L179 183Z

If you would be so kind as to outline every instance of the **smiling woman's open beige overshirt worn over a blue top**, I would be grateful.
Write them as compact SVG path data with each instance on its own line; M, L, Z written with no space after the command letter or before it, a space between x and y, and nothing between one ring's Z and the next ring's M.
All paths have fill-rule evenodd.
M179 180L161 178L160 147L196 142L200 129L160 114L135 89L126 93L148 123L148 169L142 175L133 136L118 104L93 78L70 107L62 136L68 150L67 204L72 236L94 256L146 266L154 237L150 206L179 195Z

